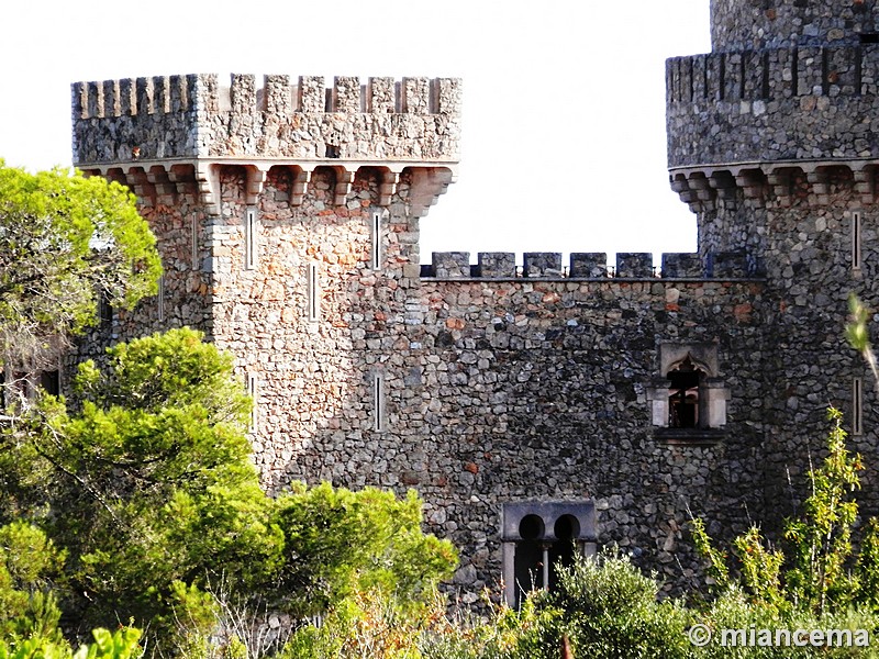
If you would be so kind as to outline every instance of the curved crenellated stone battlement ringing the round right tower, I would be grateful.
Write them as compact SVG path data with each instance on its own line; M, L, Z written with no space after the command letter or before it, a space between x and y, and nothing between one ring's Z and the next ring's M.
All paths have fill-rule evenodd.
M669 168L879 157L879 46L675 57L666 92Z

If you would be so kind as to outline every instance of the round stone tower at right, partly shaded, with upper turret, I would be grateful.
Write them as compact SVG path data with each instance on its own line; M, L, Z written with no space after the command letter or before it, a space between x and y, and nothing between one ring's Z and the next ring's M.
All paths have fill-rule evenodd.
M846 346L846 299L879 309L879 33L874 0L712 0L712 53L667 63L671 187L700 255L766 276L765 517L790 510L824 409L875 467L876 396ZM876 479L860 499L877 510Z

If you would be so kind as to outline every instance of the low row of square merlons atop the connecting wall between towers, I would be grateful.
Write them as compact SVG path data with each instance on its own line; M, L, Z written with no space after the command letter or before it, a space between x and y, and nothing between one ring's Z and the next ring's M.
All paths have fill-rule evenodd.
M561 253L526 252L524 264L516 265L512 252L480 252L470 264L469 252L434 252L432 263L421 266L421 276L436 279L761 279L759 265L743 253L692 253L663 255L659 271L653 254L619 253L616 265L608 266L603 252L575 252L563 267Z

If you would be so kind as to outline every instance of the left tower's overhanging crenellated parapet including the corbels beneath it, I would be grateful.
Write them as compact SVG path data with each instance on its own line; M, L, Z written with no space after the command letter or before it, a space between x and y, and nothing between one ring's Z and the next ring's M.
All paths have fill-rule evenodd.
M142 204L173 201L193 186L210 215L219 215L219 176L225 165L247 171L247 201L256 199L271 167L294 179L302 194L319 167L334 172L341 205L357 171L381 172L379 205L387 205L403 170L411 179L411 212L423 215L454 181L460 136L457 78L215 74L75 82L74 165L129 185Z

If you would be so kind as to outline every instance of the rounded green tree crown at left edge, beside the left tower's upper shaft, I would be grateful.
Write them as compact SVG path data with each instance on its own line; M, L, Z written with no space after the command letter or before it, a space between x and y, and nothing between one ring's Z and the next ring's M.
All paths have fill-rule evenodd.
M81 330L96 295L132 306L155 292L155 238L134 196L101 177L29 174L0 160L0 349ZM14 342L14 345L13 345Z

